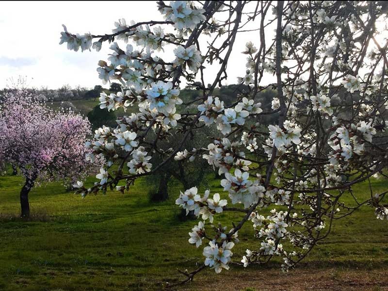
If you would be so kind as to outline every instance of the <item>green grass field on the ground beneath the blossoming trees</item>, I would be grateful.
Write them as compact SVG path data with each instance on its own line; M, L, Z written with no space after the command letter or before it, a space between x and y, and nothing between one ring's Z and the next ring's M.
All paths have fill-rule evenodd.
M195 222L178 220L174 201L180 186L174 181L170 199L162 203L148 201L146 180L126 194L84 199L51 183L30 193L36 215L29 222L15 218L21 183L20 177L0 176L0 290L162 290L162 282L183 279L177 268L193 270L203 261L202 248L187 242ZM373 185L386 189L388 181ZM366 183L356 191L369 195ZM223 214L220 220L229 226L237 216ZM247 247L259 245L247 240L252 234L250 224L239 232L235 261ZM298 270L283 274L278 262L247 269L232 265L220 275L204 270L178 290L388 290L388 221L364 207L336 221Z

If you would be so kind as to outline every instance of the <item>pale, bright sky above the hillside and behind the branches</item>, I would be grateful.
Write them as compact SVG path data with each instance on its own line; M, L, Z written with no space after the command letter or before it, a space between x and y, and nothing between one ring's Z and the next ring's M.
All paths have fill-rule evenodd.
M2 1L0 88L11 85L7 79L15 80L19 75L27 76L28 84L37 88L102 85L96 71L97 62L107 60L109 45L104 43L99 52L70 51L65 44L59 45L62 24L74 34L104 34L112 32L119 18L125 18L127 23L163 20L156 1ZM241 52L252 33L240 33L236 38L238 53L231 56L228 64L228 83L236 83L238 76L245 75L242 64L246 55ZM254 39L259 47L258 35ZM172 49L172 46L166 48L166 54L172 56ZM216 72L216 68L209 69Z

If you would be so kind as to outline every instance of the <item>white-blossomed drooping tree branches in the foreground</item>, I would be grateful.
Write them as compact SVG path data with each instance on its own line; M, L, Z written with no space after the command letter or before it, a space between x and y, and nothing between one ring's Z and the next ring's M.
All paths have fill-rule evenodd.
M111 34L72 34L66 27L61 33L61 44L75 51L98 51L111 43L108 60L98 62L99 78L119 81L125 89L102 93L100 106L136 109L115 128L98 129L94 141L87 143L92 149L87 159L98 156L105 164L97 175L100 182L89 189L80 183L79 193L108 187L124 191L167 162L206 159L223 175L221 186L228 197L193 187L176 200L200 220L189 242L203 246L203 265L182 272L185 281L206 267L216 273L229 269L238 231L246 224L254 227L255 237L246 255L235 261L246 267L280 256L281 268L288 270L329 234L334 220L363 205L377 218L388 218L382 202L388 191L377 193L370 182L386 177L388 164L388 42L382 34L387 13L379 1L157 5L164 21L127 24L120 19ZM213 92L228 80L236 37L247 31L252 39L242 52L246 64L233 69L241 72L239 82L249 90L226 106ZM128 44L120 47L116 41ZM174 59L163 58L167 49L174 51ZM265 76L273 81L264 84ZM182 104L181 81L201 96ZM270 111L263 111L257 101L266 88L277 92ZM187 109L192 104L196 110ZM277 116L277 122L263 128L265 115ZM204 126L218 132L209 137L209 145L182 148ZM176 132L184 133L181 142L162 151L158 143ZM152 164L155 153L163 162ZM113 164L119 165L117 170L111 170ZM125 185L118 186L120 181ZM360 201L352 188L363 181L370 185L370 198ZM344 204L345 195L356 206ZM270 214L264 216L265 210ZM240 221L216 223L217 215L226 211L241 213Z

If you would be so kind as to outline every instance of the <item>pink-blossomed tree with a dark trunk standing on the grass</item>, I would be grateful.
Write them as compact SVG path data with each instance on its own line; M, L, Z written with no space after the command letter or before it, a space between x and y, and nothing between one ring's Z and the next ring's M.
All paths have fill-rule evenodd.
M28 217L28 194L38 182L84 178L90 165L84 147L89 121L71 111L53 111L25 90L14 90L0 103L0 159L20 169L21 216Z

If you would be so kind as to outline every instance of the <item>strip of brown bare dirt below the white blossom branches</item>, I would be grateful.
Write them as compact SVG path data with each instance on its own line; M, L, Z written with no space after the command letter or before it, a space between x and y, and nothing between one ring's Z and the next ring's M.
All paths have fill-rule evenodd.
M195 280L195 278L194 278ZM388 291L388 268L378 270L297 269L240 272L193 282L201 291ZM188 286L187 286L188 287ZM185 290L179 289L179 290Z

